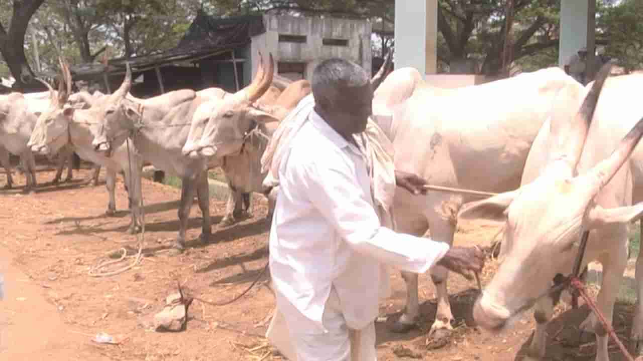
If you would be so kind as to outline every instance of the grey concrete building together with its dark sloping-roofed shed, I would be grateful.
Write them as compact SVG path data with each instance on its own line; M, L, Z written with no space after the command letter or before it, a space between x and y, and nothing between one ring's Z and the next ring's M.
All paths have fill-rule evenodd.
M212 17L199 11L175 48L114 58L107 65L72 66L71 75L75 81L98 83L111 92L122 83L125 62L129 62L136 96L207 87L234 92L257 73L258 50L266 60L272 53L276 73L293 80L311 80L314 67L331 57L352 60L370 72L370 37L371 24L364 19L269 14Z

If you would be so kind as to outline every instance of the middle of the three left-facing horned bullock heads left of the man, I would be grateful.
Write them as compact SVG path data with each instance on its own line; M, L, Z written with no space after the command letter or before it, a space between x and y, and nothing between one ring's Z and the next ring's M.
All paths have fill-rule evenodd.
M92 145L96 152L109 153L110 150L125 142L134 124L140 119L140 109L125 98L132 87L132 70L125 62L125 79L121 86L111 95L104 96L105 101L96 109L96 128Z

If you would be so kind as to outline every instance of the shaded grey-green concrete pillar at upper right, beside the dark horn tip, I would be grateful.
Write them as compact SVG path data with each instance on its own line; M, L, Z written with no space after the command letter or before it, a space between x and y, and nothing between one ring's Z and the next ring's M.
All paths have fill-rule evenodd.
M558 65L563 67L565 60L586 46L590 75L595 53L595 14L596 0L563 0L560 13L560 44L558 46Z

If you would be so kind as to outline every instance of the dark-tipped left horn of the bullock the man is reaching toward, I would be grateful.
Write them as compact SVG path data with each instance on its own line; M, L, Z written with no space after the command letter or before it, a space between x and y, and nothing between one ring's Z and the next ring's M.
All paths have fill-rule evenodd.
M587 132L590 128L590 123L592 122L594 110L596 109L605 80L610 75L610 69L611 64L609 63L601 67L601 70L596 75L594 83L592 84L592 88L583 100L583 105L581 105L581 108L575 114L572 121L566 121L566 119L559 118L561 116L568 115L568 113L563 110L566 107L569 107L568 104L559 104L563 109L556 109L556 112L554 112L550 132L553 135L555 142L554 145L557 146L557 149L554 149L552 152L552 160L557 157L563 157L563 159L568 163L572 173L574 172L579 159L581 159L583 146L585 144ZM564 92L566 89L563 88L561 91ZM560 101L557 103L560 103Z

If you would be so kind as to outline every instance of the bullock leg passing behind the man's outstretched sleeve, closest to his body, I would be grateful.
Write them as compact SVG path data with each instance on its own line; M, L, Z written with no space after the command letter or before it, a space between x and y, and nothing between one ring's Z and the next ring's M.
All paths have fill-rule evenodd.
M426 217L417 215L417 213L397 211L395 213L395 223L397 224L397 231L400 233L415 236L422 236L428 229ZM391 331L406 333L415 327L415 322L417 322L420 315L420 306L417 294L417 274L402 272L402 278L406 283L406 306L399 319L392 323Z

